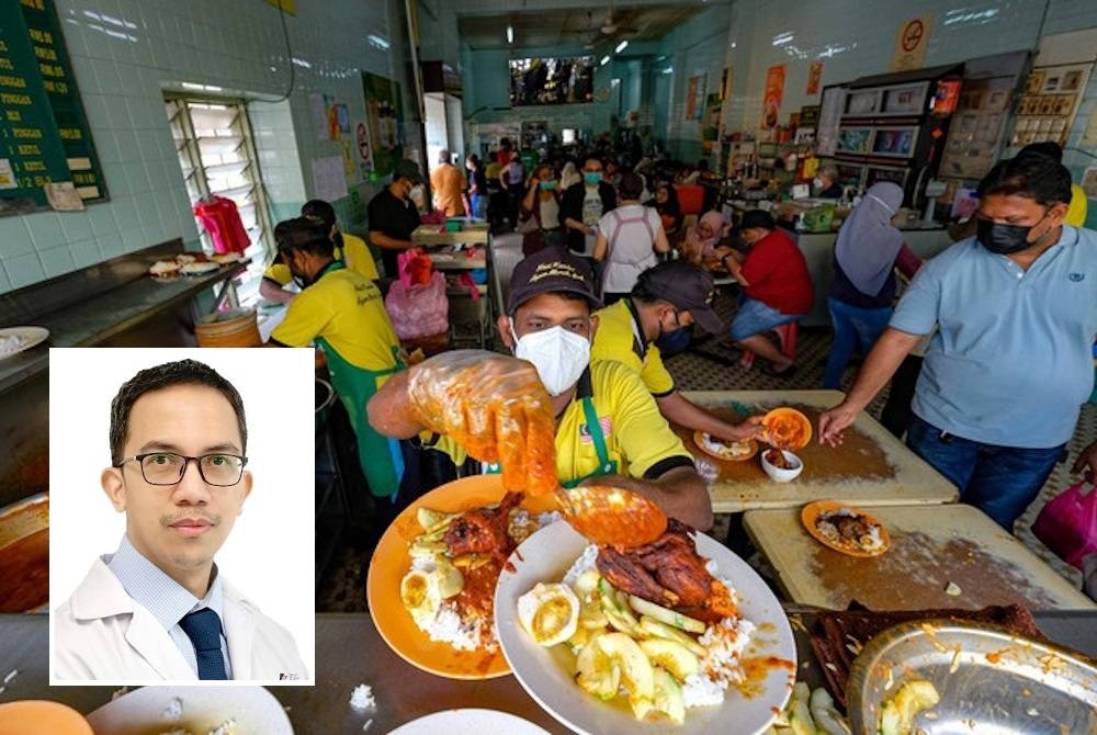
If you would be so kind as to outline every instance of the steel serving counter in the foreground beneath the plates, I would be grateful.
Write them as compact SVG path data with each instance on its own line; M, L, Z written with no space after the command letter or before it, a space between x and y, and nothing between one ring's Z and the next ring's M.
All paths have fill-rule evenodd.
M819 664L808 645L815 611L803 606L784 610L796 641L796 677L811 687L822 686ZM1053 642L1097 656L1097 611L1037 611L1034 618ZM0 614L0 680L8 678L0 703L50 699L90 713L118 693L117 687L49 687L48 646L47 615ZM507 712L550 733L569 732L511 675L461 681L416 668L388 648L367 613L317 613L316 663L315 686L269 687L298 735L382 735L427 714L465 708ZM372 688L376 700L365 711L350 705L351 692L362 683Z

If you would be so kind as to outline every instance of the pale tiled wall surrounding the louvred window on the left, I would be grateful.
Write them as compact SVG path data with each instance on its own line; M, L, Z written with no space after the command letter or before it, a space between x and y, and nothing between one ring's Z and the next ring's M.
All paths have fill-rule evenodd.
M57 0L57 8L111 199L82 213L0 217L0 292L174 237L195 241L162 86L275 99L290 80L279 11L261 0ZM399 81L407 108L403 8L403 0L308 1L286 16L294 91L287 103L253 105L252 118L275 204L299 206L312 190L310 160L342 150L317 140L310 92L335 95L361 117L367 70ZM360 199L372 192L357 189Z

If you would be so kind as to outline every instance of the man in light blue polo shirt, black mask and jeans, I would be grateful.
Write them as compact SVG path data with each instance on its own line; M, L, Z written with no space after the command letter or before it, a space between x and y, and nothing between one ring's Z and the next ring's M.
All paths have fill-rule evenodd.
M936 326L907 444L1013 531L1093 389L1097 234L1063 224L1071 176L1047 157L998 162L979 196L976 237L921 269L849 395L819 418L819 440L840 442Z

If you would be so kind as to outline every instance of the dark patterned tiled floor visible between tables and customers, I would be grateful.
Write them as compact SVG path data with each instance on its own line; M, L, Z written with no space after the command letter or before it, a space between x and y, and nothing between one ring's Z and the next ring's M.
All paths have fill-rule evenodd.
M734 306L730 299L719 302L721 316L730 319ZM804 329L800 332L799 352L796 357L798 372L790 378L776 378L764 374L756 364L750 371L743 370L736 362L737 351L726 340L710 339L701 349L725 358L728 365L686 352L667 360L667 366L682 389L693 391L767 391L767 389L813 389L822 385L823 368L830 348L830 332L826 329ZM848 387L856 375L856 370L846 371L845 386ZM869 412L879 416L880 408L886 400L886 389L869 407ZM1043 544L1036 540L1031 532L1032 521L1044 504L1058 493L1075 482L1070 474L1070 467L1078 452L1090 442L1097 440L1097 406L1086 405L1082 418L1071 441L1071 456L1059 465L1044 486L1039 498L1017 522L1014 533L1041 558L1048 562L1056 572L1075 585L1081 585L1081 575L1073 567L1064 564ZM721 524L723 525L723 523ZM717 530L716 538L724 538ZM321 584L317 595L317 609L330 611L362 611L365 606L365 569L370 558L369 542L343 544L332 564L331 572Z

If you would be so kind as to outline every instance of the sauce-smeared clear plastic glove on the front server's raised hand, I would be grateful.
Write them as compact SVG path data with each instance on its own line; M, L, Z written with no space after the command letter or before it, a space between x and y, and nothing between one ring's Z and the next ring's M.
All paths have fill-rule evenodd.
M410 370L408 400L423 427L480 462L499 463L507 490L544 495L559 486L552 399L529 362L443 352Z

